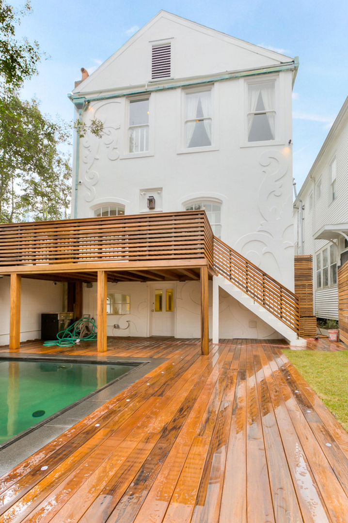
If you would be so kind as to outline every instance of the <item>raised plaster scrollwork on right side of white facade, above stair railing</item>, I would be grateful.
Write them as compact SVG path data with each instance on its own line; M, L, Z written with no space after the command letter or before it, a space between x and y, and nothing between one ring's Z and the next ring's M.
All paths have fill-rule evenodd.
M288 198L284 198L283 194L288 162L278 151L268 151L261 155L259 163L262 181L257 206L263 221L257 232L239 238L234 248L275 278L282 279L283 256L286 249L294 246L291 241L292 225L288 220L291 190Z

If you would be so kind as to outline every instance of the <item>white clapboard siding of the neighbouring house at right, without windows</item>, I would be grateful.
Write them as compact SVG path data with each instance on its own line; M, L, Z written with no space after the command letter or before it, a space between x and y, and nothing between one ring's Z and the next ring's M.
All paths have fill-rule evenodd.
M332 128L327 145L318 155L308 176L299 191L299 198L304 203L304 254L313 256L313 283L315 288L314 314L332 320L338 320L338 286L316 288L316 255L325 247L330 247L327 240L315 240L313 236L324 225L348 223L348 113L343 115L339 125ZM337 197L331 201L329 166L336 158L336 191ZM316 201L316 188L321 178L321 197ZM310 194L313 194L313 207L310 210ZM294 209L294 224L299 244L299 211ZM344 250L344 238L338 241L338 265ZM345 249L346 250L346 249ZM300 253L298 245L297 254Z

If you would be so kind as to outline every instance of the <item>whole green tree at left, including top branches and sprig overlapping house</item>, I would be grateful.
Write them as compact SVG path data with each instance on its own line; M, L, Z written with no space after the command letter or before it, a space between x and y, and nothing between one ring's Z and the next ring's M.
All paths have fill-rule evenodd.
M70 158L61 152L72 126L42 115L36 100L23 101L18 89L37 73L41 52L35 41L16 38L16 27L31 10L0 0L0 222L68 218ZM102 122L77 120L76 132L100 137Z

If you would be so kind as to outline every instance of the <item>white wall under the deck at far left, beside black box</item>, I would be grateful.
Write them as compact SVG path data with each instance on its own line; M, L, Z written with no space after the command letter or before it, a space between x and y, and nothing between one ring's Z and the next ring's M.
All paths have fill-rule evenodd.
M0 346L9 343L10 278L0 278ZM61 312L62 283L21 279L20 341L41 338L41 313Z

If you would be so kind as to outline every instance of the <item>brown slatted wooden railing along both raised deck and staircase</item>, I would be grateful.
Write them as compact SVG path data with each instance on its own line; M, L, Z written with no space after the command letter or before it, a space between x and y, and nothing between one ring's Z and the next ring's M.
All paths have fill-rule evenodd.
M298 332L297 296L212 234L205 211L0 224L0 267L208 260Z

